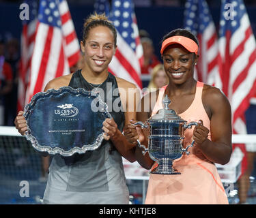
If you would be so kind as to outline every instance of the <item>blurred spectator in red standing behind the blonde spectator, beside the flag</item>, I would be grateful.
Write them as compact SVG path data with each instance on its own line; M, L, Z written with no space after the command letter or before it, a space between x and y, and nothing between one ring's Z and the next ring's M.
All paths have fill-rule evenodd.
M154 55L154 46L150 37L144 37L143 35L141 36L141 34L140 37L144 58L143 66L141 67L141 74L151 74L152 69L158 65L160 61L156 55Z

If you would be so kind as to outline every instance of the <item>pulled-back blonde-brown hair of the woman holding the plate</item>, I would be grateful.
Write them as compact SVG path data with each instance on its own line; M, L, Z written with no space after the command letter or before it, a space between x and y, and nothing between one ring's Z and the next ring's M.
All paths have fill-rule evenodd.
M115 29L115 26L113 23L106 17L105 13L103 14L97 14L96 12L94 14L91 14L84 22L83 24L83 44L85 44L85 40L87 39L89 35L89 31L93 29L94 27L98 26L104 26L108 27L113 35L114 35L114 42L115 46L117 44L117 31Z

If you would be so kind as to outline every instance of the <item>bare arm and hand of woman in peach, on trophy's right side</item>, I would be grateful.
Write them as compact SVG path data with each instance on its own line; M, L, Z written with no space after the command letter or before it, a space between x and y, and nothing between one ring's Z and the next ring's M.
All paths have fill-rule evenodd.
M205 157L214 163L226 164L232 153L231 106L225 95L216 88L205 90L202 96L203 106L209 108L210 131L212 141L208 139L209 129L196 126L193 132L195 146Z

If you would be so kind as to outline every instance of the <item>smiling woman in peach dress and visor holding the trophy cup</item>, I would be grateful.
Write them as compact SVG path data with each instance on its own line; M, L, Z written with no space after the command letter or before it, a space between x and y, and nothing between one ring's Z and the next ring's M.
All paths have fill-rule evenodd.
M137 121L144 122L156 114L162 108L162 97L168 95L169 108L185 121L199 123L185 131L185 147L195 140L193 148L188 149L190 155L184 153L173 161L173 168L181 174L150 174L145 204L228 204L214 163L225 164L231 157L231 107L221 90L195 80L197 51L197 38L190 31L176 29L165 35L161 55L169 84L141 99ZM124 134L134 144L137 139L141 144L148 143L145 129L128 125ZM137 146L137 161L143 168L154 169L157 163L142 151Z

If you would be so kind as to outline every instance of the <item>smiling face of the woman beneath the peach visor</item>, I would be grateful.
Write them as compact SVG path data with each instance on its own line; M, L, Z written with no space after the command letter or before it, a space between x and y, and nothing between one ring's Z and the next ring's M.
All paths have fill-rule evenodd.
M183 84L187 80L193 80L194 65L197 62L194 53L188 52L180 44L173 44L165 49L162 59L170 82Z

